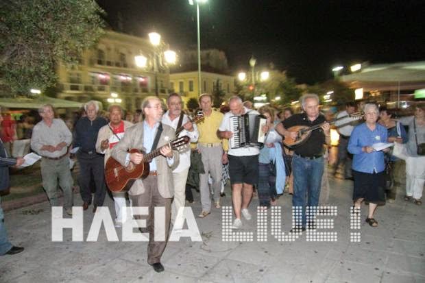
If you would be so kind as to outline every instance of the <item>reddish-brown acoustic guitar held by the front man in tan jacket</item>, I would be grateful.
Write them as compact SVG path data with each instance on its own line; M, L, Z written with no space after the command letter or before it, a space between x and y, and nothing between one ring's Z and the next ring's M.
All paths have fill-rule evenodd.
M180 138L175 138L175 140L172 140L167 145L171 147L171 149L178 150L182 145L189 143L189 140L191 140L189 136L182 136ZM163 145L162 147L167 145ZM138 178L145 179L145 177L149 175L149 162L156 158L156 156L160 156L160 149L162 147L149 153L145 153L138 149L130 149L130 151L128 151L129 153L143 153L143 160L140 164L134 164L130 161L127 167L124 167L112 157L108 158L105 166L105 180L109 190L114 193L127 191L130 190L135 180Z

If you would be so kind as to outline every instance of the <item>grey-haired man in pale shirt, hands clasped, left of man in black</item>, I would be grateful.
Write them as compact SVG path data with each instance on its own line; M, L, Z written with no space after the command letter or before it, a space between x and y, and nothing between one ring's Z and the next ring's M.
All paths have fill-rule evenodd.
M38 109L42 121L32 130L31 148L42 156L41 177L51 206L58 206L58 180L64 192L64 209L72 214L73 179L69 169L68 147L72 134L61 119L55 119L53 106L46 104Z

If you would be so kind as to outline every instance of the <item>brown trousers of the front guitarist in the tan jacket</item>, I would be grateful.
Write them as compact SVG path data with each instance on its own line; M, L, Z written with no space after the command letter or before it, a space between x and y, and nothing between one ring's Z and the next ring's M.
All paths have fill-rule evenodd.
M149 244L147 245L147 263L149 264L161 261L162 253L168 241L171 219L171 199L165 199L160 195L157 178L154 175L147 176L143 180L145 192L141 195L130 195L133 206L149 208L148 215L134 215L134 219L146 220L147 232L149 232ZM156 206L165 207L165 223L160 223L160 227L155 227L154 212ZM145 229L142 228L142 230ZM155 233L165 234L165 241L155 241Z

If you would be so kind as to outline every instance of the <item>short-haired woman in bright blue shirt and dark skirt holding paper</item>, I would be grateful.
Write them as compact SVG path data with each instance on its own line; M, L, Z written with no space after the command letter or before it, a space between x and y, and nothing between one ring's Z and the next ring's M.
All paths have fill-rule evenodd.
M384 152L376 151L376 143L387 142L387 128L376 123L378 107L366 103L365 123L354 127L348 142L348 151L354 155L352 170L354 177L354 207L360 208L363 200L369 201L369 213L366 222L372 227L378 226L374 212L378 202L385 201L385 160ZM387 151L387 150L385 150Z

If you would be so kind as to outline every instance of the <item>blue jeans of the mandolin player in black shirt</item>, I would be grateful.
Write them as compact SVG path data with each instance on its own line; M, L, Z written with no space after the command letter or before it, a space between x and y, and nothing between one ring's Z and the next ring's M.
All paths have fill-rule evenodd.
M306 206L317 206L319 204L323 170L323 157L308 160L296 154L293 155L292 206L302 207L302 227L306 227Z

